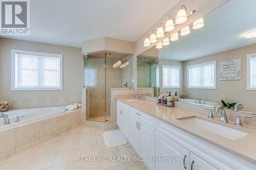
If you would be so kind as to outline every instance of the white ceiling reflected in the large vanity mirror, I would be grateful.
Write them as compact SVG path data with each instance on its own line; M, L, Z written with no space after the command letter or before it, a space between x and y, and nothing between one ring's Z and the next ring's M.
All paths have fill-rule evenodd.
M255 0L231 0L203 17L205 27L193 30L189 26L189 35L163 46L159 57L186 61L256 43L256 37L245 38L256 29L255 7Z

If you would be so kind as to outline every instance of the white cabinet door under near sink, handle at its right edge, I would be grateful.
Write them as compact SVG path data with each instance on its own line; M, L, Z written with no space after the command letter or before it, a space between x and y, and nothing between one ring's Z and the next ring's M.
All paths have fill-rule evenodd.
M156 131L156 157L168 158L167 161L156 161L156 170L189 169L189 151L158 131ZM170 158L175 161L169 160Z

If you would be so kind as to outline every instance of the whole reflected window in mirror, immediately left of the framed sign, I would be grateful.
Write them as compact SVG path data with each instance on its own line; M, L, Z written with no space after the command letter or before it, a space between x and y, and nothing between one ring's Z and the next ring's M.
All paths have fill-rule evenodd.
M187 66L188 88L216 89L216 61Z

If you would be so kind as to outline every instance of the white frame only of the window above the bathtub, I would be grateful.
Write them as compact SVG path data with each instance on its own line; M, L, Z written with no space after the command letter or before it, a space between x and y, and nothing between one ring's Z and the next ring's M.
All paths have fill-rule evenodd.
M17 79L15 75L16 69L15 69L15 54L28 54L28 55L37 55L37 56L46 56L46 57L58 57L59 58L59 87L17 87L15 80ZM43 52L33 52L33 51L25 51L25 50L14 50L11 49L11 91L33 91L33 90L62 90L62 54L53 54L53 53L43 53Z

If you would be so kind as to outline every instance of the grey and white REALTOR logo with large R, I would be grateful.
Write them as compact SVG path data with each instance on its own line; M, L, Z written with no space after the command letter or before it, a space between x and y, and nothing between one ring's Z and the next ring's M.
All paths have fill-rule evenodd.
M29 0L0 0L2 35L29 35Z

